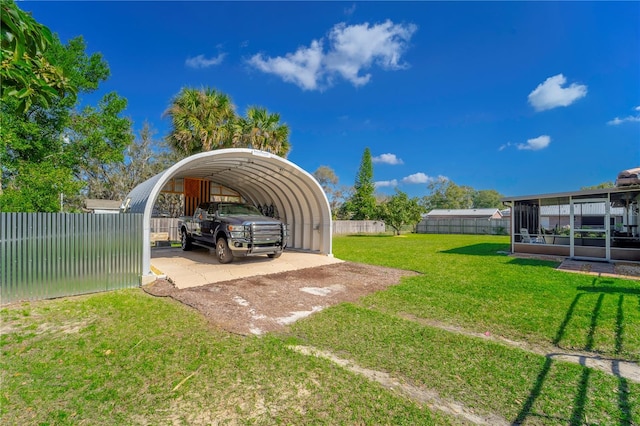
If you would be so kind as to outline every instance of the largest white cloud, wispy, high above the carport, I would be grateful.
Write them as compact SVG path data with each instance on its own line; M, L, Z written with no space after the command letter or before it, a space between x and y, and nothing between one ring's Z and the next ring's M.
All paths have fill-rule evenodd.
M329 31L326 52L324 40L313 40L311 46L300 47L284 57L254 55L249 64L304 90L322 90L331 86L336 77L362 86L371 81L371 74L363 72L374 65L384 70L407 67L401 57L416 30L414 24L394 24L390 20L376 25L340 23Z

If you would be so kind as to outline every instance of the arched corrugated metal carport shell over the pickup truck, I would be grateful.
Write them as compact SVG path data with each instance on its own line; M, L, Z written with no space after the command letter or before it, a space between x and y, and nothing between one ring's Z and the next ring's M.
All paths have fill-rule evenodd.
M237 191L255 205L273 204L289 227L288 247L331 255L331 209L318 182L294 163L264 151L220 149L187 157L136 186L126 211L143 213L143 274L151 274L153 205L171 180L210 180Z

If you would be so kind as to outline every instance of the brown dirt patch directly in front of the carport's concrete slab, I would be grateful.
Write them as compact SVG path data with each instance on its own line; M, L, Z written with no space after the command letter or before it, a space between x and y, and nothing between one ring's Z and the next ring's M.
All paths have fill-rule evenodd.
M157 280L144 290L168 296L201 312L209 321L237 334L263 334L341 302L399 284L416 272L342 262L296 271L177 289Z

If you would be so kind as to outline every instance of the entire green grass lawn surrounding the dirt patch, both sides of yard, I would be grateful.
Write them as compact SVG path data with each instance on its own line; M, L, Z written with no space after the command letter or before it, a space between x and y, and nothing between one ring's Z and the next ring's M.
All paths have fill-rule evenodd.
M640 282L507 249L493 236L334 238L340 259L421 275L261 338L140 290L4 308L0 423L463 423L291 348L305 345L507 423L640 424L637 383L434 326L638 362Z

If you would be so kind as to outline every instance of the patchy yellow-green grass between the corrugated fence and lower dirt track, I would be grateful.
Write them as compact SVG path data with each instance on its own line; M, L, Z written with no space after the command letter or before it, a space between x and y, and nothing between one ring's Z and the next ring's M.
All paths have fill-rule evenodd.
M363 377L140 290L2 310L0 424L440 424Z

